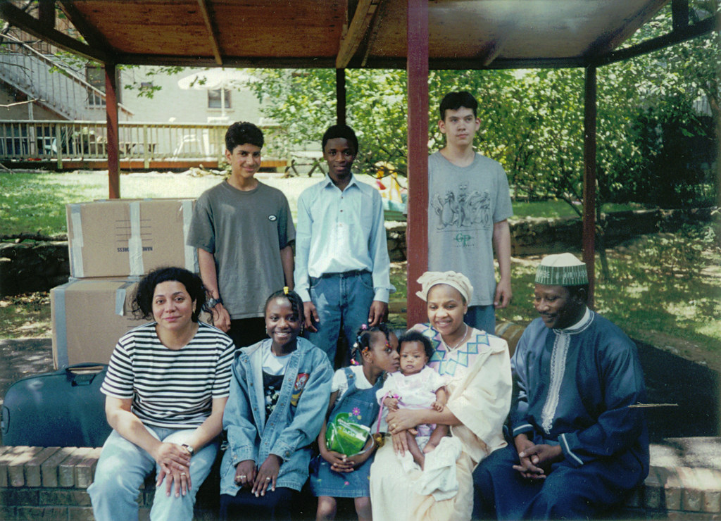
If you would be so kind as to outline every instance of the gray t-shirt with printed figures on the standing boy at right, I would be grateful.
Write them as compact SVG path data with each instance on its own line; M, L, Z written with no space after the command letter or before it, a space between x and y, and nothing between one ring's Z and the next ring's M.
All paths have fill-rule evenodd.
M493 223L511 215L500 163L479 153L469 166L441 152L428 157L428 270L466 275L473 285L469 306L493 303Z

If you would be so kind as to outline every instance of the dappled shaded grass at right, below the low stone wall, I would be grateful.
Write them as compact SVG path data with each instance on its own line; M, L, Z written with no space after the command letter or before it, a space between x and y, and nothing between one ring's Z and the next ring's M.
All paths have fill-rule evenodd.
M692 344L705 358L717 360L721 347L721 251L718 239L710 240L712 230L709 225L694 232L698 233L691 239L694 252L683 257L684 270L692 272L691 277L678 271L688 228L661 237L644 236L609 249L612 276L610 280L596 280L596 311L634 339L681 352L686 344ZM673 244L676 253L665 257L660 265L655 250L662 243ZM579 251L575 253L580 257ZM596 257L597 270L598 260ZM498 321L527 324L538 316L531 297L539 262L540 257L512 259L513 301L508 308L496 311ZM670 275L671 262L677 262L674 275Z

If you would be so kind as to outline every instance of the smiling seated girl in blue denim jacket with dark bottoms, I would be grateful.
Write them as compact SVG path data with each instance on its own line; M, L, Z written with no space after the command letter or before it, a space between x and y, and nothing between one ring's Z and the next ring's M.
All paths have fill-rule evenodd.
M270 339L236 355L223 416L222 519L290 519L308 479L333 371L321 349L298 338L302 322L301 298L288 288L273 293L265 304Z

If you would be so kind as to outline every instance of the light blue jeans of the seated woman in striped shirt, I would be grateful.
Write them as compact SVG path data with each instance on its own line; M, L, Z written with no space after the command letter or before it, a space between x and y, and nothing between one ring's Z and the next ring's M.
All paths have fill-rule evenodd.
M165 429L151 427L146 429L154 437L164 442L184 443L195 431L193 429ZM192 520L195 494L211 471L216 459L218 444L211 442L198 450L190 458L190 483L192 488L183 496L165 494L165 481L156 489L150 519L155 520ZM102 446L97 462L95 478L88 488L92 501L93 515L97 520L136 520L138 519L138 492L151 471L156 468L155 460L145 450L133 442L125 440L113 430Z

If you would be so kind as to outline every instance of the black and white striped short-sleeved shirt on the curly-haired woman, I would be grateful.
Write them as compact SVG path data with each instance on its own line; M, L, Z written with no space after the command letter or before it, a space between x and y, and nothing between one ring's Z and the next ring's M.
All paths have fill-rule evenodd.
M165 347L155 322L123 335L110 357L101 391L133 398L131 411L155 427L195 427L211 414L213 398L229 395L235 346L203 322L182 349Z

